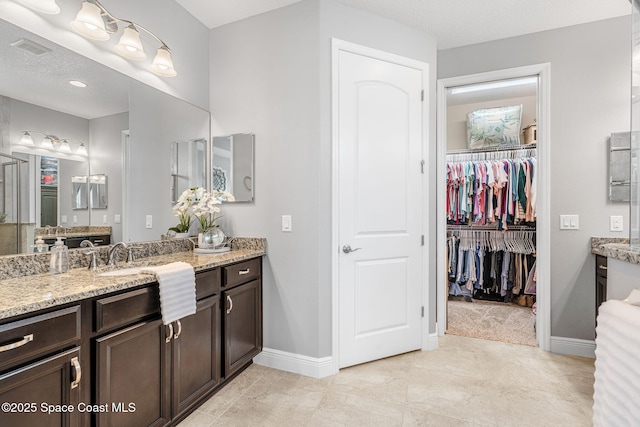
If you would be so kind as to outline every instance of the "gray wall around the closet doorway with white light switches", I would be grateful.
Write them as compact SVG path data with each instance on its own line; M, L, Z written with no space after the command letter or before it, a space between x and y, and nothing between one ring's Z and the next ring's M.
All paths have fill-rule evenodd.
M626 204L608 202L607 138L629 129L630 17L438 52L438 78L551 64L551 335L594 338L592 236L628 237ZM559 215L580 215L580 229ZM609 232L623 215L625 233Z

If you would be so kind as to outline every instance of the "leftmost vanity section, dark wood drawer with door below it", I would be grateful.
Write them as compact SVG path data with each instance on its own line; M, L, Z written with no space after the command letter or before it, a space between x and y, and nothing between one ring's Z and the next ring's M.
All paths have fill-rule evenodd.
M0 426L82 424L80 326L79 305L0 325Z

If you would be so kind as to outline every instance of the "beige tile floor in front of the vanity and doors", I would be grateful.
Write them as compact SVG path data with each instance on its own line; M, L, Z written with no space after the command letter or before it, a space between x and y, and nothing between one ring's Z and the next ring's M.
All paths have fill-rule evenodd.
M593 359L439 341L322 379L252 365L179 426L592 425Z

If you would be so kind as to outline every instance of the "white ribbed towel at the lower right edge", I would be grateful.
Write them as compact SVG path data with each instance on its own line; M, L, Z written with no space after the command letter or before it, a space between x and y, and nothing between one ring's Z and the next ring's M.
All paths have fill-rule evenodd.
M609 300L596 328L594 426L640 426L640 307Z

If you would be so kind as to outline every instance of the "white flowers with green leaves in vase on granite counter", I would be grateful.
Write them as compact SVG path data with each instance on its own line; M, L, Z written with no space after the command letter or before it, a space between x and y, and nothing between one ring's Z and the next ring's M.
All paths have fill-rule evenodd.
M177 203L173 206L173 214L178 217L179 223L170 230L176 233L188 232L193 217L196 217L200 223L200 229L204 233L216 226L215 222L219 218L216 217L216 214L220 212L218 205L234 200L233 195L226 191L207 192L202 187L189 188L182 192Z

